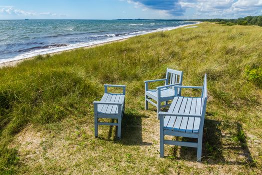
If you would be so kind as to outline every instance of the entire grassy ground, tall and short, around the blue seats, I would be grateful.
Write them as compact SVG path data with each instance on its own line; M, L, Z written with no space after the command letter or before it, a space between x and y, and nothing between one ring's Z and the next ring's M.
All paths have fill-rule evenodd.
M0 171L261 173L262 27L198 26L1 68ZM155 107L144 110L144 80L163 78L167 67L183 70L185 85L201 85L208 74L202 163L196 149L171 145L159 158L159 120ZM127 85L121 140L110 126L99 126L94 138L92 101L104 83Z

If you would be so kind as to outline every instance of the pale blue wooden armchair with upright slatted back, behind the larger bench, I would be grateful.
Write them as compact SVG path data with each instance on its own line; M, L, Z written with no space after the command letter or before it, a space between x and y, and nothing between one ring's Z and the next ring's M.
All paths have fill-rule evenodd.
M145 81L145 109L148 109L148 102L157 107L157 117L158 112L160 112L161 107L170 106L168 100L173 100L175 97L175 85L182 85L183 71L174 70L167 68L166 78L164 79L154 79ZM158 86L157 89L148 89L149 82L155 81L165 81L165 85ZM178 88L178 95L181 94L180 88ZM151 99L155 100L153 102ZM164 105L161 102L165 101Z

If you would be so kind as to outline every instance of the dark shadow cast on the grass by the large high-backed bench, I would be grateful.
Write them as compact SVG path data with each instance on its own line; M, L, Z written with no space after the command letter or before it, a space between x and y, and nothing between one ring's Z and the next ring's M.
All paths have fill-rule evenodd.
M178 139L196 141L194 138ZM179 153L178 159L196 161L197 148L175 146L172 153L172 157L177 158ZM202 162L208 164L256 165L239 122L205 119L202 156Z

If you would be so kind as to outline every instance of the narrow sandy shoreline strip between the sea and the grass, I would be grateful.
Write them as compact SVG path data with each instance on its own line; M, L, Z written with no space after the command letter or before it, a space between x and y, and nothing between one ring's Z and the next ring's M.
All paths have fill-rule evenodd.
M179 26L176 26L176 27L171 28L171 29L170 28L163 28L162 30L150 31L150 32L147 32L147 33L137 34L137 35L129 36L129 37L126 37L126 38L118 38L116 40L108 40L108 41L104 40L104 41L101 41L101 43L94 43L94 44L90 43L90 45L88 45L88 43L87 43L86 46L79 46L79 47L76 47L76 48L69 48L69 49L65 49L65 50L54 51L54 52L50 52L50 53L43 53L43 54L38 54L38 55L47 55L47 54L53 55L53 54L59 54L59 53L64 52L64 51L71 51L71 50L78 49L78 48L91 48L91 47L95 47L95 46L99 46L99 45L104 45L104 44L107 44L107 43L124 41L124 40L127 40L127 39L129 39L131 37L138 36L138 35L155 33L155 32L160 32L160 31L169 31L169 30L174 30L174 29L177 29L177 28L182 28L182 27L185 27L185 26L197 25L197 24L202 23L200 21L195 21L195 22L196 23L194 23L194 24L179 25ZM6 60L6 61L3 61L3 62L0 62L0 68L9 67L9 66L15 66L15 65L17 65L18 63L20 63L20 62L22 62L24 60L33 59L33 58L35 58L38 55L30 56L30 57L24 57L24 58L19 58L19 59L14 59L14 60Z

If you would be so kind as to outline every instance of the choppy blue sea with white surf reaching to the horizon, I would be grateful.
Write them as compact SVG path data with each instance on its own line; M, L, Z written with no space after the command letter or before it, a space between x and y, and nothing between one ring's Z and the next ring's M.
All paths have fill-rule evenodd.
M0 20L0 62L193 23L176 20Z

